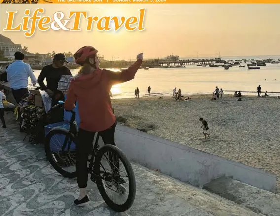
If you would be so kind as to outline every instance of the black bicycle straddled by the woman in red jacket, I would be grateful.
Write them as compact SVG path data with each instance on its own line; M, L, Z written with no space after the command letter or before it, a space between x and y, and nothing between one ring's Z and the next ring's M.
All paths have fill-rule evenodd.
M58 106L63 106L64 102L59 101ZM76 177L76 171L70 172L66 171L63 168L65 166L69 167L70 162L67 163L68 157L71 157L71 163L75 166L75 146L76 146L76 139L78 134L78 126L76 122L76 113L71 110L72 113L71 120L70 120L70 128L69 130L66 128L53 128L49 131L46 135L46 142L45 142L45 152L46 157L53 168L59 172L62 176L68 178ZM135 176L132 169L130 162L128 161L125 154L115 145L104 145L102 147L99 146L98 140L100 137L99 133L96 133L95 142L92 148L91 157L88 158L88 173L90 174L90 180L96 183L97 188L104 199L105 203L116 212L124 212L128 210L135 199L136 194L136 183L135 183ZM60 137L60 144L63 135L65 136L63 145L61 147L53 146L52 138L55 135L59 135ZM113 158L113 162L107 162L110 168L113 170L111 172L106 171L105 166L101 163L103 160L103 156L106 153L113 153L116 157L105 156L105 161L107 162L110 158ZM120 177L121 172L117 171L116 174L116 160L120 159L120 161L124 164L125 171L127 172L126 178ZM118 161L119 164L119 161ZM115 168L114 168L115 167ZM103 170L101 170L103 168ZM108 196L105 191L105 188L112 189L115 186L115 190L120 197L119 200L122 200L124 195L126 194L126 188L124 184L128 182L129 185L129 192L128 197L123 204L117 204Z

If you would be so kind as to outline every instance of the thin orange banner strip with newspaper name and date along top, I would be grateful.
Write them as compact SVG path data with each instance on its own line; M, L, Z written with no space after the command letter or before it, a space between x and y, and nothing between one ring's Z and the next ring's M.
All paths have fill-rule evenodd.
M279 4L280 0L1 0L1 4Z

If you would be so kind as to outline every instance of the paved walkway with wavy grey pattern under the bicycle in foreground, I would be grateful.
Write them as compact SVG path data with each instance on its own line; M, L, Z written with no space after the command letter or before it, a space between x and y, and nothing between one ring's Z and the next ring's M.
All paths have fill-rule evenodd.
M133 164L137 193L123 213L109 209L91 184L86 207L75 207L75 179L63 178L45 158L42 145L23 140L11 114L1 129L1 216L258 216L249 209Z

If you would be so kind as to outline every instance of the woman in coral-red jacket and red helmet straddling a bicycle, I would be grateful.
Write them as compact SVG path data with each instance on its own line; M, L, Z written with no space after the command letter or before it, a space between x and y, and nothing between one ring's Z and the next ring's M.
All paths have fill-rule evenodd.
M95 132L100 132L104 144L115 145L117 123L112 109L110 90L115 84L134 79L143 62L143 53L140 53L137 55L137 61L126 70L121 72L102 70L99 68L97 52L92 46L84 46L74 54L75 62L82 68L70 83L64 105L66 110L72 110L77 101L81 119L76 155L77 183L80 194L74 201L76 206L83 206L89 202L86 191L87 158L89 152L92 151ZM119 182L122 182L121 179ZM122 185L118 184L118 187Z

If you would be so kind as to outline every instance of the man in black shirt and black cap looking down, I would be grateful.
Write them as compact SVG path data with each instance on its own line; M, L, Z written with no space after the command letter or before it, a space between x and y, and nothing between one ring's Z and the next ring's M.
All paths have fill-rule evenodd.
M57 90L61 76L72 75L70 69L64 65L65 62L67 61L64 54L56 54L53 57L53 63L44 66L38 77L40 87L42 90L46 91L50 97L53 97L54 92ZM44 84L44 79L47 81L47 86Z

